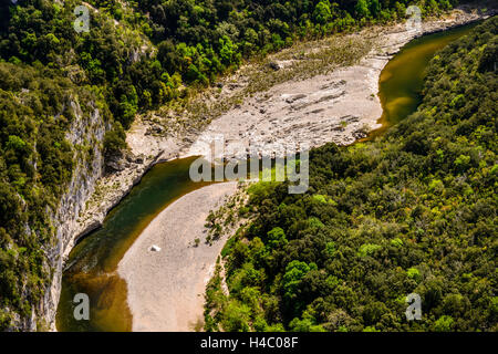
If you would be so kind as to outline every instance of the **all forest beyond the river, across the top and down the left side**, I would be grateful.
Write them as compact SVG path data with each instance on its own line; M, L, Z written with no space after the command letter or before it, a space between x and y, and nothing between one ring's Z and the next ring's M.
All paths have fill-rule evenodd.
M425 15L457 1L87 2L89 32L74 30L81 1L0 4L0 329L40 310L52 277L51 217L76 159L91 160L100 145L68 142L71 103L86 113L98 108L111 156L125 147L136 113L188 98L246 59L403 19L411 3Z

